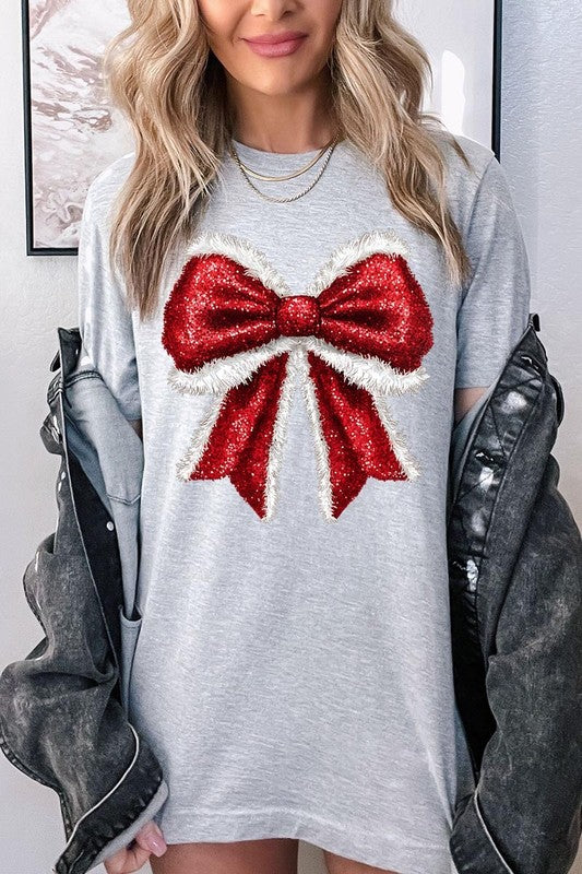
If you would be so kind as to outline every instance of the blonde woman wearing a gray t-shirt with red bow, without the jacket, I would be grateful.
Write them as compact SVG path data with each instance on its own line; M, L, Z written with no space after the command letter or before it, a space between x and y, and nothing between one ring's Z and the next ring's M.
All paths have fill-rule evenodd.
M107 871L289 874L300 838L449 874L448 451L527 321L506 176L421 113L387 0L129 7L80 326L143 423L129 705L169 796Z

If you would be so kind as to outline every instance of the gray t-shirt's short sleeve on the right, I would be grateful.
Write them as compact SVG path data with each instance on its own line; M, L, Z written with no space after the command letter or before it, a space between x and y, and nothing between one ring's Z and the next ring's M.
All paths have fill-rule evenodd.
M486 387L525 331L531 306L525 241L495 155L474 196L464 243L472 274L458 307L455 388Z

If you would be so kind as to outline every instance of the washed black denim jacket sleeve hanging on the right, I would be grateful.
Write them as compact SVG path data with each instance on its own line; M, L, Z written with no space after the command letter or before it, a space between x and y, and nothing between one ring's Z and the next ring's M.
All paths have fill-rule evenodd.
M496 727L455 813L462 874L565 874L579 847L582 544L558 479L550 454L487 660Z

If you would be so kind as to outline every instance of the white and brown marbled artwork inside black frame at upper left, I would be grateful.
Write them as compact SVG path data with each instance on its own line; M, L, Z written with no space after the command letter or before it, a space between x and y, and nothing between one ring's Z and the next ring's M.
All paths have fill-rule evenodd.
M123 0L28 0L33 245L76 247L88 184L133 147L107 97L103 51Z

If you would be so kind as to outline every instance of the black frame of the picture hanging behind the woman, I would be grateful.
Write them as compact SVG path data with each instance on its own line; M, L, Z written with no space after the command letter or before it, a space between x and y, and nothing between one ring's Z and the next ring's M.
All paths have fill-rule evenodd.
M23 60L23 103L24 103L24 196L26 213L26 255L59 256L76 255L78 247L48 247L34 245L34 201L33 201L33 138L31 109L31 43L28 0L22 3L22 60ZM491 149L498 161L501 158L501 54L502 54L502 10L503 0L494 0L494 50L492 50L492 111Z

